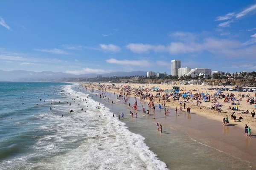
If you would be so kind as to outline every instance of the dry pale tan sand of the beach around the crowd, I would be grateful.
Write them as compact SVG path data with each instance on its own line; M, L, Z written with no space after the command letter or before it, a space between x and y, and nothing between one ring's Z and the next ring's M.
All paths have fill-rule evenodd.
M95 88L95 89L99 89L99 86L97 86L98 83L94 83L94 84L85 84L85 86L90 86L91 88ZM103 86L103 88L107 89L107 91L112 91L115 92L116 94L119 94L120 92L122 92L122 94L124 93L124 91L120 90L120 87L124 87L125 85L130 86L131 88L140 88L142 86L145 87L144 93L148 92L151 93L153 95L155 95L156 93L160 93L161 95L164 94L164 91L166 89L172 89L172 86L179 86L180 87L180 91L179 93L186 93L186 92L191 92L191 93L208 93L209 95L214 95L216 91L213 90L207 90L207 88L221 88L223 86L209 86L209 85L161 85L161 84L132 84L132 83L120 83L120 84L115 84L116 87L119 88L113 88L111 83L101 83L101 85ZM153 90L149 90L151 88L159 88L160 92L157 91L153 91ZM193 91L194 90L194 91ZM126 92L125 92L126 93ZM239 111L235 111L234 116L236 116L236 119L239 119L239 117L241 116L243 119L241 120L237 120L236 124L239 127L244 128L244 125L247 124L253 131L253 129L256 129L256 118L252 118L251 112L255 111L255 104L250 105L249 102L247 102L247 97L246 95L249 94L250 97L255 97L256 93L253 92L238 92L238 91L223 91L223 94L234 94L235 97L239 100ZM244 98L238 96L239 94L244 94ZM133 90L131 90L130 92L130 96L134 96L135 92ZM180 100L182 100L184 102L183 98L180 98ZM147 101L147 100L146 100ZM196 101L197 100L193 100L192 98L190 98L188 100L188 102L186 102L186 107L190 107L191 108L191 112L192 113L197 113L201 116L205 116L207 117L207 119L214 119L219 121L220 123L222 122L222 119L227 115L229 118L231 117L231 114L234 112L231 109L228 108L232 108L236 105L231 105L231 102L224 102L224 99L217 99L217 101L215 103L212 103L213 101L213 97L211 97L210 102L203 102L203 100L201 100L201 104L200 106L196 105ZM154 102L157 103L157 107L158 107L158 99L157 101L154 99ZM162 103L163 100L160 100L160 103ZM166 102L166 100L165 100ZM238 101L235 101L236 103L238 103ZM213 109L209 109L212 107L212 105L214 104L221 104L221 113L213 110ZM180 108L180 103L175 100L173 101L172 99L170 99L170 102L166 102L166 105L169 105L169 108L175 108L177 107L177 109L179 110ZM182 103L182 107L183 107L183 103ZM201 108L201 109L200 109ZM249 113L245 114L242 112L245 111L249 111ZM183 110L185 111L185 110ZM229 120L229 122L233 123L233 120Z

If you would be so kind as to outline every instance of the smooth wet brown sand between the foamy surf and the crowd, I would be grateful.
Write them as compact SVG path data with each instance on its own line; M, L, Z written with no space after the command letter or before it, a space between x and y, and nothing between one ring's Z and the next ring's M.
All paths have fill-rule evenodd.
M151 116L148 116L142 113L139 101L136 119L129 115L129 110L135 113L134 110L127 109L122 99L116 102L115 98L111 95L113 105L102 99L99 102L103 102L116 114L124 112L128 119L122 121L127 123L132 132L144 136L146 144L170 169L255 169L253 161L256 160L256 148L253 146L256 138L245 137L244 130L236 126L236 122L223 127L222 122L195 113L178 111L176 115L171 108L171 113L165 116L163 109L157 107L156 112L151 111ZM130 97L129 102L132 104L134 97ZM147 106L147 103L143 102L143 106ZM144 108L147 110L147 107ZM156 122L163 125L163 133L156 131Z

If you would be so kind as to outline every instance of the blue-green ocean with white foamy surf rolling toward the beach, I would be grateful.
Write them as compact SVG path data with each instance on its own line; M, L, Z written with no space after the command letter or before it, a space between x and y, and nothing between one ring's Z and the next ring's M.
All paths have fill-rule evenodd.
M0 170L168 169L142 135L77 87L0 82Z

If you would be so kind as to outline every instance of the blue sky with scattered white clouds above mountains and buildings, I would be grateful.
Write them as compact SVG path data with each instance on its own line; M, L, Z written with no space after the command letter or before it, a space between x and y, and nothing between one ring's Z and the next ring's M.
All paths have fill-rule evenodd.
M256 70L256 1L1 1L0 70Z

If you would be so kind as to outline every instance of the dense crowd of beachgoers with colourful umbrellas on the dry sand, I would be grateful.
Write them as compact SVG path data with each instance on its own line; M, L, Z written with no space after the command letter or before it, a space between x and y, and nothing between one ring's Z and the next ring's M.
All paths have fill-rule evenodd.
M138 111L137 97L139 97L140 102L144 102L146 100L148 101L148 109L143 108L143 105L141 106L141 108L143 108L142 112L144 114L147 113L148 115L150 115L151 111L155 112L155 109L156 109L155 102L158 102L157 104L158 108L163 109L165 115L169 114L169 104L166 104L166 102L171 102L171 100L180 104L179 106L180 113L183 113L182 109L185 109L187 113L190 113L191 106L198 107L198 109L202 110L204 108L204 106L201 106L202 102L211 102L212 105L211 107L208 107L208 109L214 110L216 111L216 113L222 113L224 111L222 108L223 104L221 104L221 101L222 101L224 103L230 103L230 105L234 105L233 107L230 106L227 110L237 111L232 113L231 120L236 121L237 119L239 120L244 119L242 116L239 116L237 118L237 116L235 115L235 114L239 114L238 112L241 111L241 108L239 107L239 105L241 105L240 102L242 101L241 94L239 94L237 97L233 93L222 94L222 92L220 92L215 94L208 94L207 91L205 91L205 93L203 92L203 88L201 93L199 92L198 88L188 92L186 92L186 89L183 88L181 90L182 93L176 93L176 92L169 93L169 92L166 92L166 89L155 88L155 87L147 88L144 86L140 86L139 88L134 88L127 85L111 86L111 85L91 84L91 86L97 87L98 90L101 90L102 92L104 92L104 90L106 91L107 89L109 91L113 89L118 90L119 94L117 95L117 97L119 97L119 99L122 98L122 100L125 101L124 103L127 105L127 108L130 108L130 103L127 101L128 96L130 96L131 94L134 95L135 102L133 103L131 108L134 109L136 118L137 118L137 111ZM249 94L247 94L246 96L247 96L247 103L249 103L250 105L254 105L256 103L256 97L255 98L250 97ZM186 107L186 104L189 104L189 106ZM175 107L175 113L178 113L177 106L174 105L174 107ZM256 108L256 105L255 105L255 108ZM249 111L248 110L241 111L241 113L248 114ZM130 115L132 118L134 118L133 111L130 111ZM252 118L254 118L255 112L252 111L251 115L252 115ZM229 119L228 116L225 116L222 119L222 125L228 126L228 123L229 123L228 119Z

